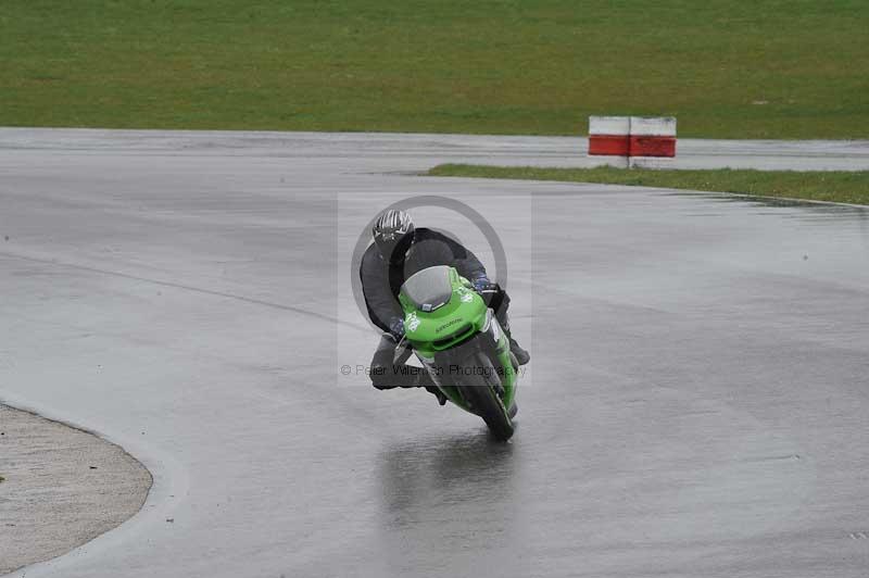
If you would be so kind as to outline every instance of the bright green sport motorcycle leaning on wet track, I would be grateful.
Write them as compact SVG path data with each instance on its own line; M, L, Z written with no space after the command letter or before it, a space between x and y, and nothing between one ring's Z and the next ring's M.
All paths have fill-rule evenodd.
M434 385L454 404L483 418L495 438L514 432L519 364L494 312L470 281L446 265L425 268L401 287L404 339Z

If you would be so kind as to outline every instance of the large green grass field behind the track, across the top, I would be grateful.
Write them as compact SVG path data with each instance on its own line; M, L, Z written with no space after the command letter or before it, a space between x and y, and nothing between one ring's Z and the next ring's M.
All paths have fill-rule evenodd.
M866 0L3 0L0 125L869 137Z

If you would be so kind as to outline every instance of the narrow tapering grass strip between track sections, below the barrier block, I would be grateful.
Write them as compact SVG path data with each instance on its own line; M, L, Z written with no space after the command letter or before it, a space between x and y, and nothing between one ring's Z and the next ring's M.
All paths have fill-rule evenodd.
M869 204L869 172L652 171L443 164L431 176L602 183Z

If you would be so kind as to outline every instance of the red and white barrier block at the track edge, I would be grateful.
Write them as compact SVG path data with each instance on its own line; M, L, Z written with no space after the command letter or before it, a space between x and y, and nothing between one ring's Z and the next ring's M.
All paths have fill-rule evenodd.
M659 166L676 156L676 118L590 116L589 155L616 166Z

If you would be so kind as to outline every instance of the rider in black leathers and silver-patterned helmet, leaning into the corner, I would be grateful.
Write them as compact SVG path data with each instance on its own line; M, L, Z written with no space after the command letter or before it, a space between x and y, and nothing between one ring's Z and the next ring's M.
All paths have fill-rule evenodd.
M398 363L393 361L395 344L404 337L404 313L398 300L401 286L414 273L433 265L455 267L487 298L516 360L520 365L529 362L528 352L511 335L509 297L489 280L486 267L474 253L441 233L415 228L406 211L394 209L385 211L375 221L371 236L374 242L362 257L360 277L368 316L385 331L371 360L370 377L375 388L424 387L438 395L441 405L446 401L425 370L404 365L406 356Z

